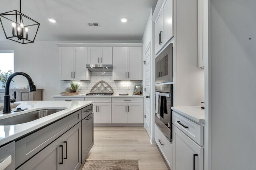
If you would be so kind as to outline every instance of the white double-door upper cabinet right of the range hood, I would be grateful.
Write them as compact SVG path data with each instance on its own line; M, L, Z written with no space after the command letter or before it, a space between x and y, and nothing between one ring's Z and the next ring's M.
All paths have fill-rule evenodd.
M113 80L142 80L142 47L113 47Z

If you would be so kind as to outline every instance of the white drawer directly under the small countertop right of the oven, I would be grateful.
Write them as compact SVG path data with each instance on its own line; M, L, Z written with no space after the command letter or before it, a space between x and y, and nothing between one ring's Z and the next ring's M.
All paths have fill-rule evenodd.
M199 125L190 119L173 112L172 123L178 127L182 132L188 135L196 143L203 146L203 126Z

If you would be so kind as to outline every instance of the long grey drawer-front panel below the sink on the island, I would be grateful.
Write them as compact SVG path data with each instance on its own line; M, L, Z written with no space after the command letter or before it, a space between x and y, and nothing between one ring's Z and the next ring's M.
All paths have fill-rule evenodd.
M68 131L81 120L81 110L28 135L15 143L15 168Z

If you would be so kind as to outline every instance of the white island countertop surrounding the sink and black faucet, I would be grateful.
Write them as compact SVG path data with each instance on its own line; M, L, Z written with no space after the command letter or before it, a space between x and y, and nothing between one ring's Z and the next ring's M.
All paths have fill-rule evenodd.
M25 114L31 111L41 110L41 109L64 109L62 111L53 113L51 115L42 117L40 119L36 119L34 121L30 121L28 123L22 123L18 125L0 125L0 146L8 143L10 141L14 141L15 139L22 137L40 127L48 125L53 121L61 119L69 115L70 113L74 113L75 111L82 109L94 101L22 101L17 102L20 103L19 106L22 109L28 108L27 110L14 112L12 109L12 113L10 114L2 114L0 111L0 121L7 117L12 117L16 115Z

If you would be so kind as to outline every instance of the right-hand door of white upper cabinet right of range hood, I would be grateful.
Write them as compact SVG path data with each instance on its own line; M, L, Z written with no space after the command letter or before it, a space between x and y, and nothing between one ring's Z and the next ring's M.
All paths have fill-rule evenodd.
M127 80L142 80L142 48L127 47Z

